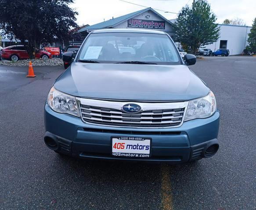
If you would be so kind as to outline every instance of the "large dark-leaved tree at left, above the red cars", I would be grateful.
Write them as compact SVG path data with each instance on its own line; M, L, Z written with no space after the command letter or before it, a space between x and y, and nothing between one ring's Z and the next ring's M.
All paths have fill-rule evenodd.
M76 25L73 0L0 0L0 28L9 38L20 39L34 58L40 43L66 40Z

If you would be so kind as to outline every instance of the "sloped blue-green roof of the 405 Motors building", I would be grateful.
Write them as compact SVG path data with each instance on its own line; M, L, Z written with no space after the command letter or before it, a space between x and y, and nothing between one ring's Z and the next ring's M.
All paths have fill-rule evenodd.
M148 8L145 8L143 10L139 10L139 11L136 11L136 12L132 12L130 14L126 14L126 15L123 15L123 16L120 16L118 18L113 18L113 19L110 19L108 21L103 21L101 23L97 23L97 24L94 24L94 25L90 25L88 27L85 27L85 28L81 28L80 30L78 30L78 32L82 32L82 31L93 31L93 30L97 30L97 29L102 29L102 28L112 28L114 27L115 25L119 25L121 24L122 22L124 21L127 21L129 20L130 18L133 18L141 13L144 13L146 11L152 11L154 12L155 14L159 15L161 18L163 18L166 22L168 22L169 24L173 25L173 23L171 23L169 20L167 20L166 18L164 18L161 14L159 14L158 12L156 12L155 10L153 10L151 7L148 7Z

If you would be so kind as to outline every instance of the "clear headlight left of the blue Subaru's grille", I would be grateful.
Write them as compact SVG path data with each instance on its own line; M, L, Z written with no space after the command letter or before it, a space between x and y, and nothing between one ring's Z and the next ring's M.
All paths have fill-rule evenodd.
M79 112L77 111L76 98L72 95L62 93L52 87L50 89L47 101L50 108L55 112L79 116Z

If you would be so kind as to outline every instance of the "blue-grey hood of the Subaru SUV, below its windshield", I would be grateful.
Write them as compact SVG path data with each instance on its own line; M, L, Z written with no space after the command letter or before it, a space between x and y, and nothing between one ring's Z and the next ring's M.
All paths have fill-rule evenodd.
M186 101L209 93L185 65L77 62L54 87L77 97L134 101Z

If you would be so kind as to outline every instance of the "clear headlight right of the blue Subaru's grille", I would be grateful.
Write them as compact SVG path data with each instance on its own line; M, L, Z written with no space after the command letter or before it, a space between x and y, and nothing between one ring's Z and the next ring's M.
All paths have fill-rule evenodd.
M184 121L207 118L216 111L216 100L212 91L203 98L192 100L188 103L187 113Z

